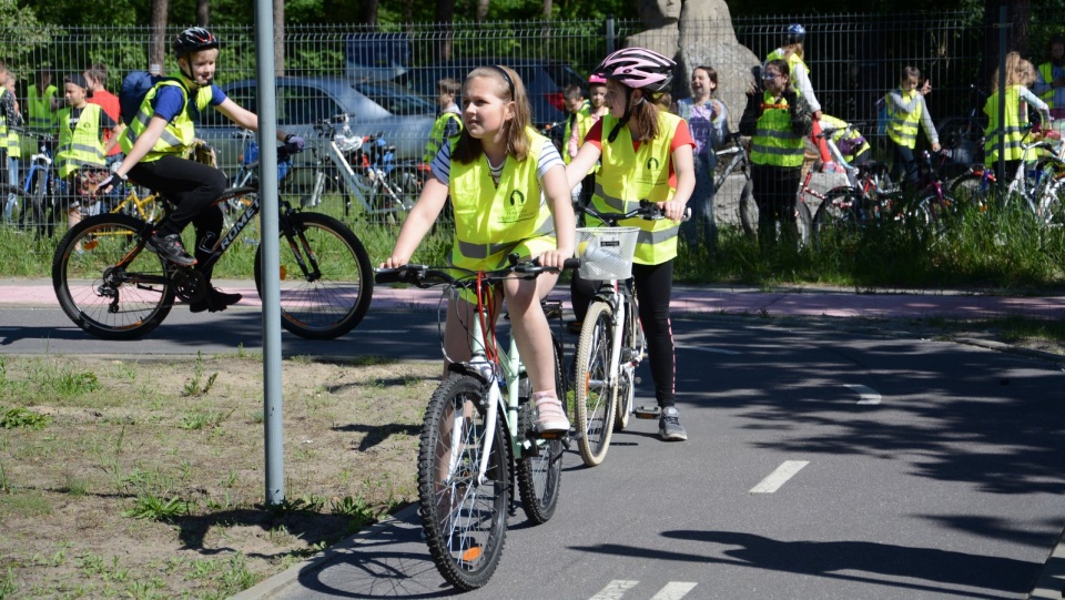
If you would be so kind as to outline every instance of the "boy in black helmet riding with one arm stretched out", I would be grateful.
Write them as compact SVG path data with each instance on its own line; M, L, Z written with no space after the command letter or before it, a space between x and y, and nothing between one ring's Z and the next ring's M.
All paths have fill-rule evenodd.
M97 193L110 192L119 180L132 176L136 183L170 199L175 209L149 238L148 247L174 264L192 266L197 258L185 252L181 232L189 223L195 225L196 255L205 258L211 254L224 224L222 209L213 202L225 191L227 180L217 169L182 157L195 140L189 104L194 103L200 111L214 106L230 121L253 131L258 129L258 116L214 84L219 39L210 31L193 27L179 33L174 57L179 77L164 79L149 90L136 116L122 132L120 142L125 159L100 183ZM303 149L302 138L281 130L277 140L295 150ZM203 272L207 295L192 303L193 313L224 311L241 299L240 294L211 287L210 271Z

